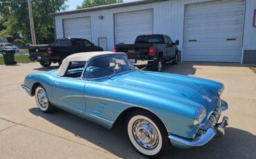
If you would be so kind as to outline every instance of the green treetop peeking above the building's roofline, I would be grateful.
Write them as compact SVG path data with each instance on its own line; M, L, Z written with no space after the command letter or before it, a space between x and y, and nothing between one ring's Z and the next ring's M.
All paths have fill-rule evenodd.
M90 8L113 3L122 3L122 0L84 0L81 6L77 6L77 9Z

